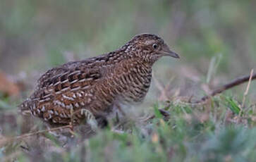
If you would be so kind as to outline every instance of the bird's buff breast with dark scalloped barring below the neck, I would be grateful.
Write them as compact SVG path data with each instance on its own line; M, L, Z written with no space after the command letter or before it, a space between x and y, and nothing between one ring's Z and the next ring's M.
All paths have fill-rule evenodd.
M152 68L139 61L124 61L109 75L116 99L126 103L141 102L150 88Z

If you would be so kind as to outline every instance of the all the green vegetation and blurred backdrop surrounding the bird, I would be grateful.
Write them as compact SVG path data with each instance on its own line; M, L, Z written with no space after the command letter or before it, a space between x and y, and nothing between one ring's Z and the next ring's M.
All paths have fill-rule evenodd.
M255 82L190 103L256 71L255 5L1 0L0 161L256 161ZM126 118L96 127L89 139L75 132L63 144L39 133L46 130L41 121L25 123L18 114L45 70L111 51L141 32L163 37L181 61L156 63L147 99L126 108Z

